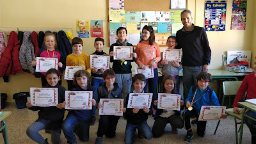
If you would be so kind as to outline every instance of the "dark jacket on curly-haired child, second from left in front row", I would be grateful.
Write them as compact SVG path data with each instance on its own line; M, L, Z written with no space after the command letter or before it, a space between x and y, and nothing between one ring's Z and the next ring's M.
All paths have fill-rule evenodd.
M98 100L97 89L94 86L88 85L86 90L84 90L80 86L77 86L76 88L73 88L72 91L93 91L93 99L95 99L96 101ZM93 106L92 109L96 109L96 107ZM72 114L76 116L78 121L84 122L90 120L90 118L92 117L92 109L72 109L68 112L68 115Z

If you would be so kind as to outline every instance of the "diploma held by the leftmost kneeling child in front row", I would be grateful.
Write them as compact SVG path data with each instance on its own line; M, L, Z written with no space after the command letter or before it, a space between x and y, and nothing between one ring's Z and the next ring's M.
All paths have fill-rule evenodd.
M30 88L32 106L56 106L58 102L58 88Z

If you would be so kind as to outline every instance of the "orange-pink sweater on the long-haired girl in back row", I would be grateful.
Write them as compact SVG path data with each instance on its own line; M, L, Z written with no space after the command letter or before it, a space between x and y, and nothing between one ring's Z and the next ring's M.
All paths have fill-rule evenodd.
M135 52L138 56L136 60L137 65L143 63L143 65L150 65L153 59L156 59L154 68L157 68L157 63L162 59L159 46L156 42L153 45L149 45L149 41L142 41L136 45Z

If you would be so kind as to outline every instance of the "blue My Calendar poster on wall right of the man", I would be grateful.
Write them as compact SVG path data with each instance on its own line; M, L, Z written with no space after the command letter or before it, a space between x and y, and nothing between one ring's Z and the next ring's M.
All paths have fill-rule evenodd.
M205 3L205 31L225 31L226 28L226 2Z

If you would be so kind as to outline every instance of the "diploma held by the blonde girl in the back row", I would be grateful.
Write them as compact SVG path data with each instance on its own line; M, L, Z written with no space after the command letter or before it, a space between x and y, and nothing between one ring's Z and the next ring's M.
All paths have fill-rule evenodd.
M58 70L58 58L36 57L36 72L47 72L51 68Z

